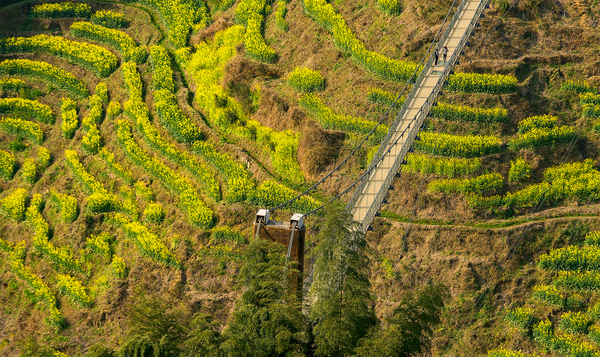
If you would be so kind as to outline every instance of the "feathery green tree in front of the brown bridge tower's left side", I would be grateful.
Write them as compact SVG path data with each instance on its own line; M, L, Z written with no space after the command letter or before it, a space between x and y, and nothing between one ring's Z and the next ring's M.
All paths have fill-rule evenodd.
M244 293L224 332L228 356L303 356L306 324L293 290L294 269L277 243L255 239L240 271Z

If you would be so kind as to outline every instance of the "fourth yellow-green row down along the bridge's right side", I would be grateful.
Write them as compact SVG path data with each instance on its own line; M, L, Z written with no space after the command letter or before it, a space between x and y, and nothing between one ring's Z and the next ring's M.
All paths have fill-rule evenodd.
M481 168L481 161L478 158L429 157L421 154L406 155L406 165L402 166L402 170L408 172L420 172L423 175L435 173L450 177L468 175L479 168Z

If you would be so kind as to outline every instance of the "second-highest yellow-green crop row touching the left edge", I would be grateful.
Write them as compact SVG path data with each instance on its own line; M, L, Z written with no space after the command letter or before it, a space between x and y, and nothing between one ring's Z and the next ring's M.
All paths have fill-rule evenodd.
M40 79L77 97L87 97L89 92L79 79L71 73L46 62L28 59L11 59L0 62L0 74L26 76Z

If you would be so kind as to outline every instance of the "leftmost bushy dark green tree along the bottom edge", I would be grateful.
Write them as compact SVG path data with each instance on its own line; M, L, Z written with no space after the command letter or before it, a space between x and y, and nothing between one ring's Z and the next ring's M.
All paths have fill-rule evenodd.
M157 297L138 298L129 309L129 331L119 357L179 356L187 337L186 316Z

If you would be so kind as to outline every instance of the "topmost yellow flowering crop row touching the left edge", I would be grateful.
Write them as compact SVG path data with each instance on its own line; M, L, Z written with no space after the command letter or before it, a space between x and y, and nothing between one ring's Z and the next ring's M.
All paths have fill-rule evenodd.
M0 39L0 53L45 53L108 77L117 69L117 57L98 45L67 40L60 36L35 35Z

